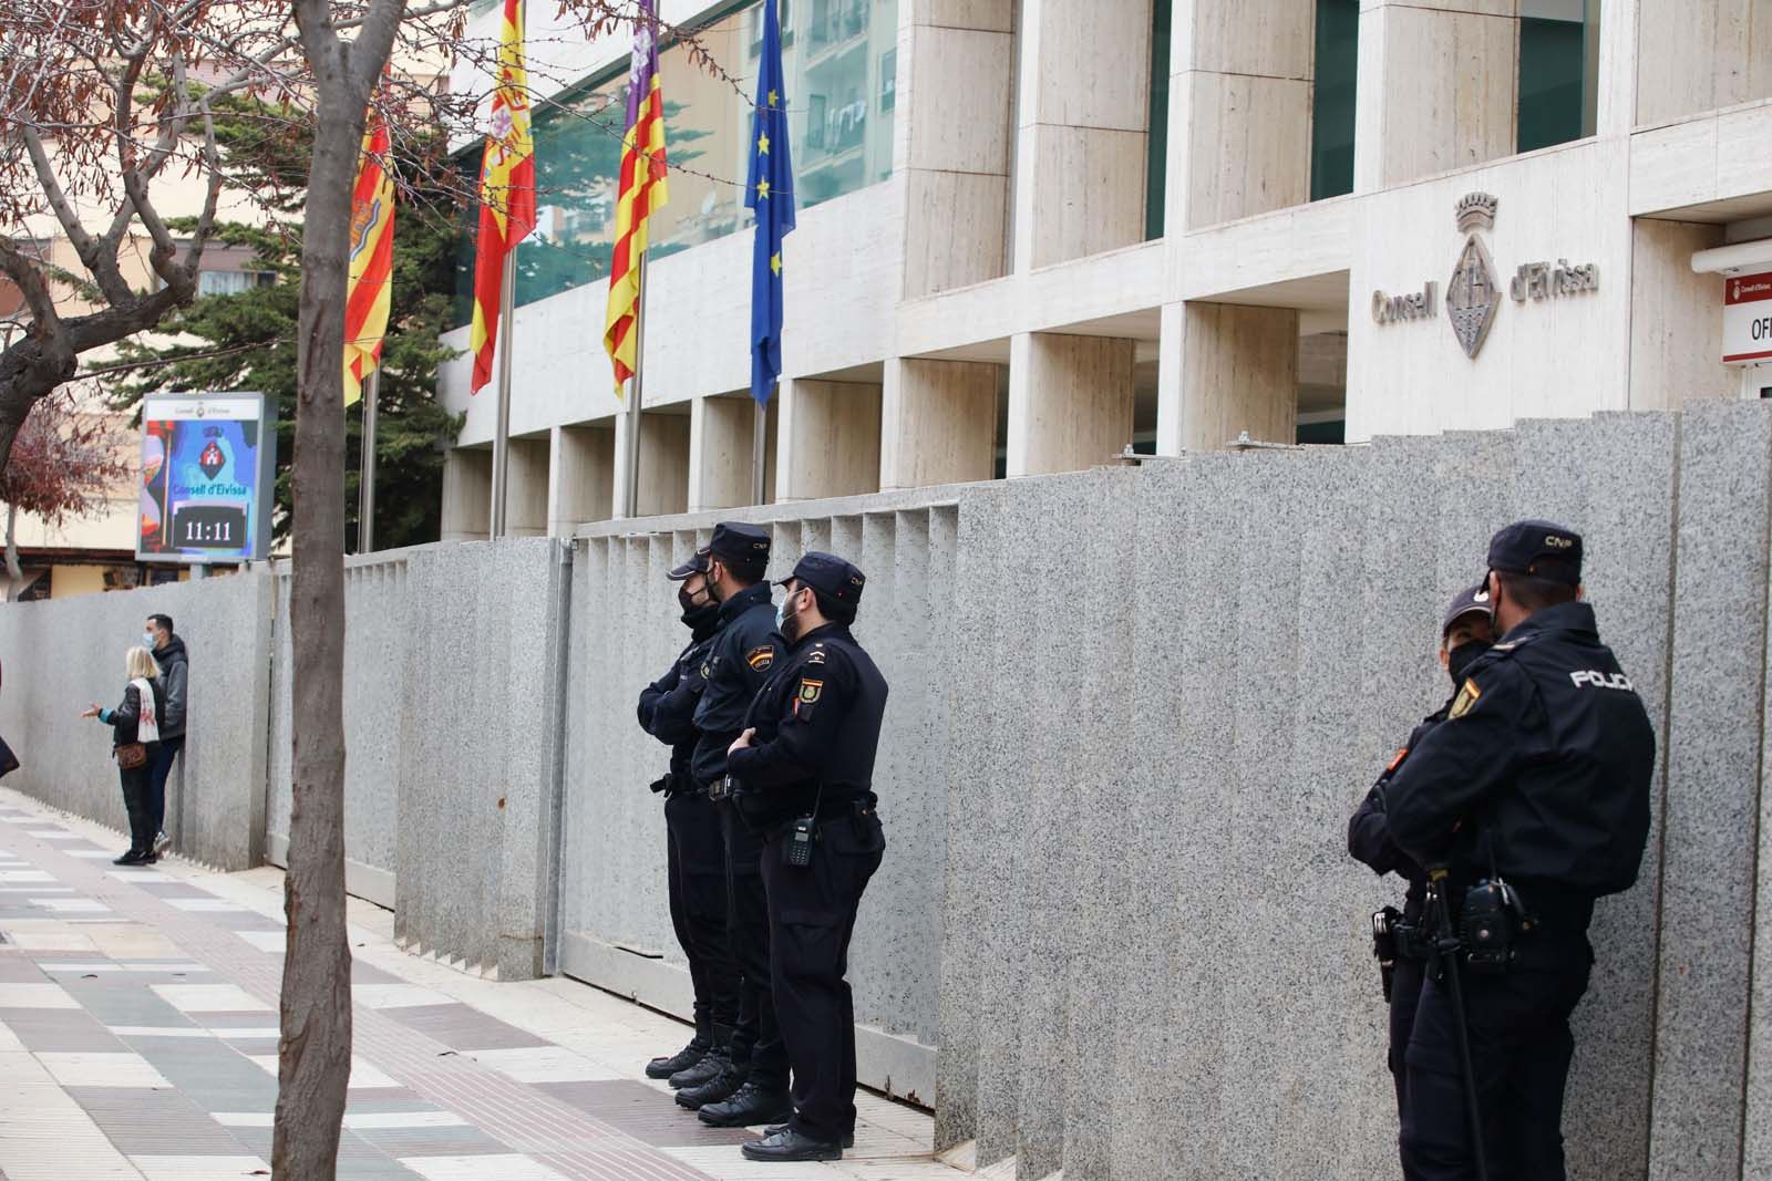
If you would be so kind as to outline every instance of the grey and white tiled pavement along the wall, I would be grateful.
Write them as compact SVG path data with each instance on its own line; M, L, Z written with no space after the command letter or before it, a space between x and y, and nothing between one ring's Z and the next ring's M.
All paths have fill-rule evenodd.
M282 878L117 869L115 834L0 790L0 1181L269 1176ZM863 1094L842 1162L758 1165L640 1066L684 1027L565 979L491 983L351 903L342 1181L959 1181Z

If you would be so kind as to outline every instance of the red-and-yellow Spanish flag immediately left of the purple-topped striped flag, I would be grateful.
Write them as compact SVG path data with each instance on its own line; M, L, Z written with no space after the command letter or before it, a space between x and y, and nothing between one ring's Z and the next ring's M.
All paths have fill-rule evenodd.
M480 237L473 259L473 393L493 381L505 255L535 228L535 142L530 138L530 76L523 66L523 0L505 0L498 34L493 127L480 161Z

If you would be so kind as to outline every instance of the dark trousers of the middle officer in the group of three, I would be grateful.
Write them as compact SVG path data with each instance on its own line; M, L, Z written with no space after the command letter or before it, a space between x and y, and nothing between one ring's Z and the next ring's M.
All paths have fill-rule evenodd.
M732 1064L762 1091L787 1091L787 1050L769 992L769 905L758 862L764 839L751 832L735 804L716 804L727 841L727 940L739 970L739 1020L732 1030Z

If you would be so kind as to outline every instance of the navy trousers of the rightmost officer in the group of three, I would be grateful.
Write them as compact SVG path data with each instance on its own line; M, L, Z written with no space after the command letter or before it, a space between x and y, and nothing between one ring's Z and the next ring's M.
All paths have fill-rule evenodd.
M856 1128L856 1006L843 974L868 878L886 853L879 816L819 829L812 864L789 866L783 838L764 846L776 1016L794 1066L792 1126L836 1140Z

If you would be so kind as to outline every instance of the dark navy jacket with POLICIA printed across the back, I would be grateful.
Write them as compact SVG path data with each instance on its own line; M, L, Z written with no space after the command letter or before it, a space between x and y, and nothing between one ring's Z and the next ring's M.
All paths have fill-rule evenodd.
M1637 880L1650 832L1655 731L1600 643L1593 607L1533 613L1481 657L1384 790L1391 836L1425 866L1501 876L1527 908L1566 907Z

